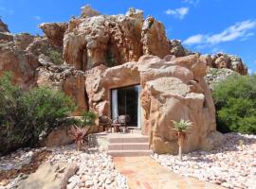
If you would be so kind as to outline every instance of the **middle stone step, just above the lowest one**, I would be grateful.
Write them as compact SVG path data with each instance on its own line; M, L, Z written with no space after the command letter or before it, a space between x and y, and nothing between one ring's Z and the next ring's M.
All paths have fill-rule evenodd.
M111 143L108 150L147 150L149 143Z

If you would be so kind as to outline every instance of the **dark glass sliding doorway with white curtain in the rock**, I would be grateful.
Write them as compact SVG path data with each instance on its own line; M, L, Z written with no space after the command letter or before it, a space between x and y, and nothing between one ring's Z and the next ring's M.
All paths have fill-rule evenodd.
M111 90L111 115L116 119L120 115L129 115L127 126L141 128L140 85L132 85Z

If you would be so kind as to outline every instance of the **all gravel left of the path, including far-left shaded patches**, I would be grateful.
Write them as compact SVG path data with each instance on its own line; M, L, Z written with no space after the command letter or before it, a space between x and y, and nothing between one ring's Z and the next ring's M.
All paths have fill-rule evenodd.
M76 163L79 170L68 180L67 189L127 189L126 179L115 169L112 157L104 150L94 146L76 151L75 145L44 147L39 149L19 149L16 152L0 158L0 173L19 170L31 163L35 152L49 151L46 163ZM27 178L20 173L16 178L0 180L0 189L13 188L19 180Z

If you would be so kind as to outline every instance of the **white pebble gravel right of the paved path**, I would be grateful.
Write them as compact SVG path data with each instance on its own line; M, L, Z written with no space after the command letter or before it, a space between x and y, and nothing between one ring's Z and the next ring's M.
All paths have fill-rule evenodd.
M225 139L222 146L210 152L184 154L182 162L174 155L152 157L174 173L227 188L256 189L256 136L228 133Z

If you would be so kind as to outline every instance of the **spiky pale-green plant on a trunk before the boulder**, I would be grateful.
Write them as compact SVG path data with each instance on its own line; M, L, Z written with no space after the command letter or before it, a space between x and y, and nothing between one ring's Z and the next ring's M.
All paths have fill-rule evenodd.
M178 157L182 160L182 148L187 135L190 133L189 129L192 127L192 122L181 119L179 122L172 121L174 123L174 135L178 138Z

